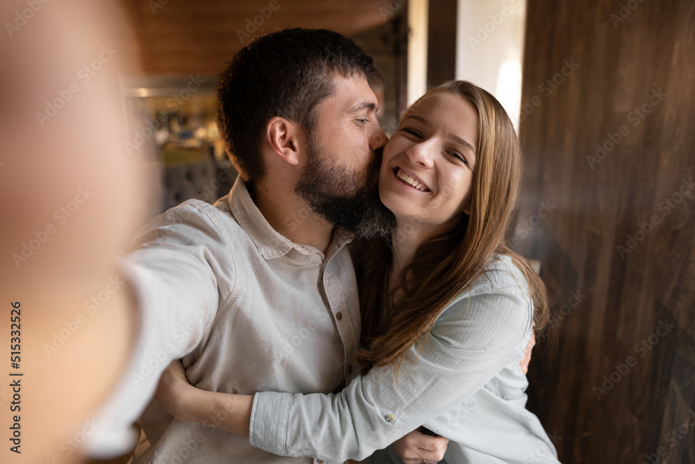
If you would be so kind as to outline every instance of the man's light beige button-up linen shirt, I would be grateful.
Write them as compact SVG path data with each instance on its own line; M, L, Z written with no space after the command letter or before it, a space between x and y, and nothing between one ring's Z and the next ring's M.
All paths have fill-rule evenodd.
M268 224L240 180L215 205L189 200L145 226L125 264L141 334L127 379L102 411L109 427L90 449L119 447L119 430L181 357L190 383L214 392L344 387L359 370L351 363L361 328L350 240L336 230L326 256L293 243ZM215 429L216 419L183 422L152 400L133 463L312 462L252 447Z

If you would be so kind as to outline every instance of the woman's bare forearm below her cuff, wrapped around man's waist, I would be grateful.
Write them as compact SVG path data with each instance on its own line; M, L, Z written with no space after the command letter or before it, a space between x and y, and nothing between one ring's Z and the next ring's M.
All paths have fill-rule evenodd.
M254 395L208 392L194 387L188 383L180 360L165 369L154 398L179 420L249 436Z

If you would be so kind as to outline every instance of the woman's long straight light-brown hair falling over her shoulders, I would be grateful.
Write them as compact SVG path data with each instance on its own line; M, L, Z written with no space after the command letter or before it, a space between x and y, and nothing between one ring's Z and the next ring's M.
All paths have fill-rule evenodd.
M421 346L439 314L471 285L495 255L511 257L523 273L526 282L519 283L528 283L535 330L548 322L543 282L526 259L505 246L505 231L521 184L521 146L512 121L495 97L467 81L443 83L411 108L433 93L463 97L477 109L480 127L471 215L464 214L455 230L423 243L385 299L387 264L391 262L388 243L373 241L366 250L359 269L363 349L357 360L366 367L395 364L397 379L405 353L418 342ZM398 236L393 240L398 241ZM393 301L397 291L400 298ZM381 320L384 303L386 316Z

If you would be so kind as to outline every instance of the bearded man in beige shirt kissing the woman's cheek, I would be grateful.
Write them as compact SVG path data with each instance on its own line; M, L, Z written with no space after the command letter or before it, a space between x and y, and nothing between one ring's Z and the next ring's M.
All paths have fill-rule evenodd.
M372 59L330 31L273 33L236 55L218 87L218 120L240 179L214 206L185 202L136 237L124 266L142 336L104 422L127 422L123 405L138 410L175 358L194 385L219 392L332 392L357 375L345 246L350 232L368 236L388 217L375 191L386 136L373 79ZM177 421L155 401L140 423L134 463L310 461Z

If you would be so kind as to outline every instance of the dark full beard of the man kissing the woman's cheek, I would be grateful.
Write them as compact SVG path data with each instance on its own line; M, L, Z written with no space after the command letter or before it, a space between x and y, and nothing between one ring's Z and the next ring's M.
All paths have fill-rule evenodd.
M379 200L381 150L370 163L366 175L345 165L331 164L330 159L335 157L322 150L309 136L306 164L295 193L316 214L357 237L391 237L395 218Z

